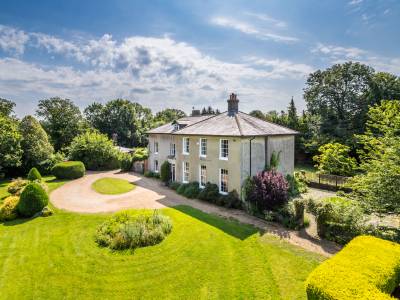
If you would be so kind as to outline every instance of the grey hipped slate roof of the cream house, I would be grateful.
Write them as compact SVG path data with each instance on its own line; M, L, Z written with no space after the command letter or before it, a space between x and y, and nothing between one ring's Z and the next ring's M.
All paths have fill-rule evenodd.
M152 129L149 133L171 133L176 135L209 135L209 136L266 136L266 135L294 135L297 131L263 121L246 113L238 112L234 116L227 112L214 116L186 117L190 124L174 131L173 123Z

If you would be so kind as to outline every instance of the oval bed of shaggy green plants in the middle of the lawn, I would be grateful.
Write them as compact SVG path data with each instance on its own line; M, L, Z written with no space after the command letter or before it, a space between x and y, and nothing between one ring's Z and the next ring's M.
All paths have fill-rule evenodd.
M114 250L136 249L160 243L171 230L170 218L158 210L139 215L125 211L101 224L95 240L100 246Z

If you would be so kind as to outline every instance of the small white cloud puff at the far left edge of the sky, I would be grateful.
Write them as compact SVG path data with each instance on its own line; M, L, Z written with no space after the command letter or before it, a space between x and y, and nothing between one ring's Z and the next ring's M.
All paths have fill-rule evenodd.
M24 31L0 25L0 49L20 55L24 53L28 40L29 36Z

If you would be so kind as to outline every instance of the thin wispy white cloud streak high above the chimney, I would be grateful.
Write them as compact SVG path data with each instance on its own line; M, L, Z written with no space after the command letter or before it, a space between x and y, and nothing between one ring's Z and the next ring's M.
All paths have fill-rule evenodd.
M227 17L222 17L222 16L214 17L211 19L211 23L217 26L237 30L247 35L252 35L261 40L272 40L275 42L285 42L285 43L298 41L298 38L296 37L273 33L265 29L257 28L252 24Z

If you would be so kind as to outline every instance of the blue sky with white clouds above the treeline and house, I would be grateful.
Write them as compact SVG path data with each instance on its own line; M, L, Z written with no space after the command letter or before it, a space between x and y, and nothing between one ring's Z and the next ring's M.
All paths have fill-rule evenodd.
M153 112L305 109L308 74L359 61L400 75L399 0L0 1L0 98L124 98Z

